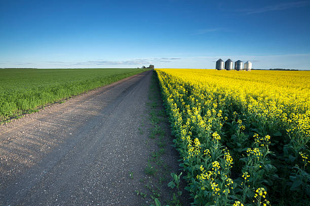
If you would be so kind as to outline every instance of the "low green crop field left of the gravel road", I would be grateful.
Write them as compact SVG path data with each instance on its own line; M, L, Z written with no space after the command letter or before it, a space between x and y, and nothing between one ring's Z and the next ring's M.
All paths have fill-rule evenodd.
M0 123L146 69L0 69Z

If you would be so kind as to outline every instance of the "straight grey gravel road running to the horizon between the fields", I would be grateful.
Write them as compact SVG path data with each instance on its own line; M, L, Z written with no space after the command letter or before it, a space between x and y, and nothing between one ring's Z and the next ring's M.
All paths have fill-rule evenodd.
M0 205L142 205L152 71L0 125ZM143 161L142 161L143 160Z

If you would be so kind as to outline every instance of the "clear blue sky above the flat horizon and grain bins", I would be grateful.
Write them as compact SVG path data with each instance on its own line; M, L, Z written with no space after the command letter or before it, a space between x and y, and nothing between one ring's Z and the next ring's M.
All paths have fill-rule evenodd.
M309 1L0 0L0 68L310 69Z

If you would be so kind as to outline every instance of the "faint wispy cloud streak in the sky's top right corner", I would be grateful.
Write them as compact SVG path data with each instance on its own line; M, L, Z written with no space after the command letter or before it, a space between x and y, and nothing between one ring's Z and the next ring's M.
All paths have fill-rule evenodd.
M299 8L304 7L309 4L309 1L300 1L300 2L289 2L289 3L283 3L283 4L277 4L272 6L266 6L258 9L243 9L243 10L237 10L239 12L246 12L246 14L260 14L270 11L282 11L292 8Z

